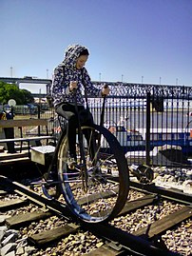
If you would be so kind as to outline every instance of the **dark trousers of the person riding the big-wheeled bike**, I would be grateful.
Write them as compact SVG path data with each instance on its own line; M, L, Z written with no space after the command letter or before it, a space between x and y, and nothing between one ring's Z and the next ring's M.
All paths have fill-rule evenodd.
M56 112L67 119L68 122L68 148L70 157L76 159L76 129L78 128L78 115L75 106L69 103L63 103L55 108ZM93 117L89 110L84 108L84 106L78 106L78 113L80 124L91 125L93 124ZM89 134L85 130L86 140L89 139Z

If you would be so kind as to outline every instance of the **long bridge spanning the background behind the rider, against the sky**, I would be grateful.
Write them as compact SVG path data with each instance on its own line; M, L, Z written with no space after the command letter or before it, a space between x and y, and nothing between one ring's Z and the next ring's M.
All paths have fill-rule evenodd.
M51 79L41 79L32 76L24 76L23 78L16 77L0 77L0 81L5 83L16 84L18 87L20 83L27 84L45 84L47 94L52 83ZM122 82L97 82L93 84L100 88L104 84L110 87L109 97L129 97L129 98L145 98L147 92L151 95L163 97L167 99L192 99L192 88L189 86L173 86L173 85L153 85L153 84L138 84L138 83L122 83ZM45 95L44 95L45 97Z

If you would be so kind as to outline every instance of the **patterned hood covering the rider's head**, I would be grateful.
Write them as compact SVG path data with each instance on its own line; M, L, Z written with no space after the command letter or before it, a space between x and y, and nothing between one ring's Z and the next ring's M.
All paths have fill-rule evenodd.
M82 50L86 49L84 46L80 45L70 45L65 50L65 59L62 62L62 65L67 66L68 68L73 68L76 66L77 58Z

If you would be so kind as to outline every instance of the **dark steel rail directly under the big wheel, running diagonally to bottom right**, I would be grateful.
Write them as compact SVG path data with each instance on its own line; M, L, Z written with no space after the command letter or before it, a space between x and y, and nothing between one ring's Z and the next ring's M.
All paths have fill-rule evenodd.
M144 240L141 237L134 236L130 233L123 231L120 228L111 226L105 223L90 224L80 221L79 219L74 219L71 217L67 206L60 203L57 200L50 200L46 197L39 195L38 193L30 190L28 187L19 184L17 182L11 181L9 178L0 175L0 184L5 190L14 190L16 193L25 195L40 206L46 206L52 210L55 214L59 214L67 220L73 220L73 222L78 222L82 229L91 231L93 234L102 237L106 241L112 241L112 243L118 243L122 249L134 252L135 255L144 256L176 256L179 255L176 252L169 251L167 249L161 248L155 245L153 242Z

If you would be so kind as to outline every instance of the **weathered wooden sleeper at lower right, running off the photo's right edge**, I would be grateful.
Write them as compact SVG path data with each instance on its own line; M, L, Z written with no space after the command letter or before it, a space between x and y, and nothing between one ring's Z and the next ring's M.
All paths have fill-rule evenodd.
M146 238L153 238L155 235L159 235L167 229L180 224L182 221L192 216L191 207L182 207L182 209L165 216L163 219L152 223L150 226L144 226L133 233L136 236L146 236Z

